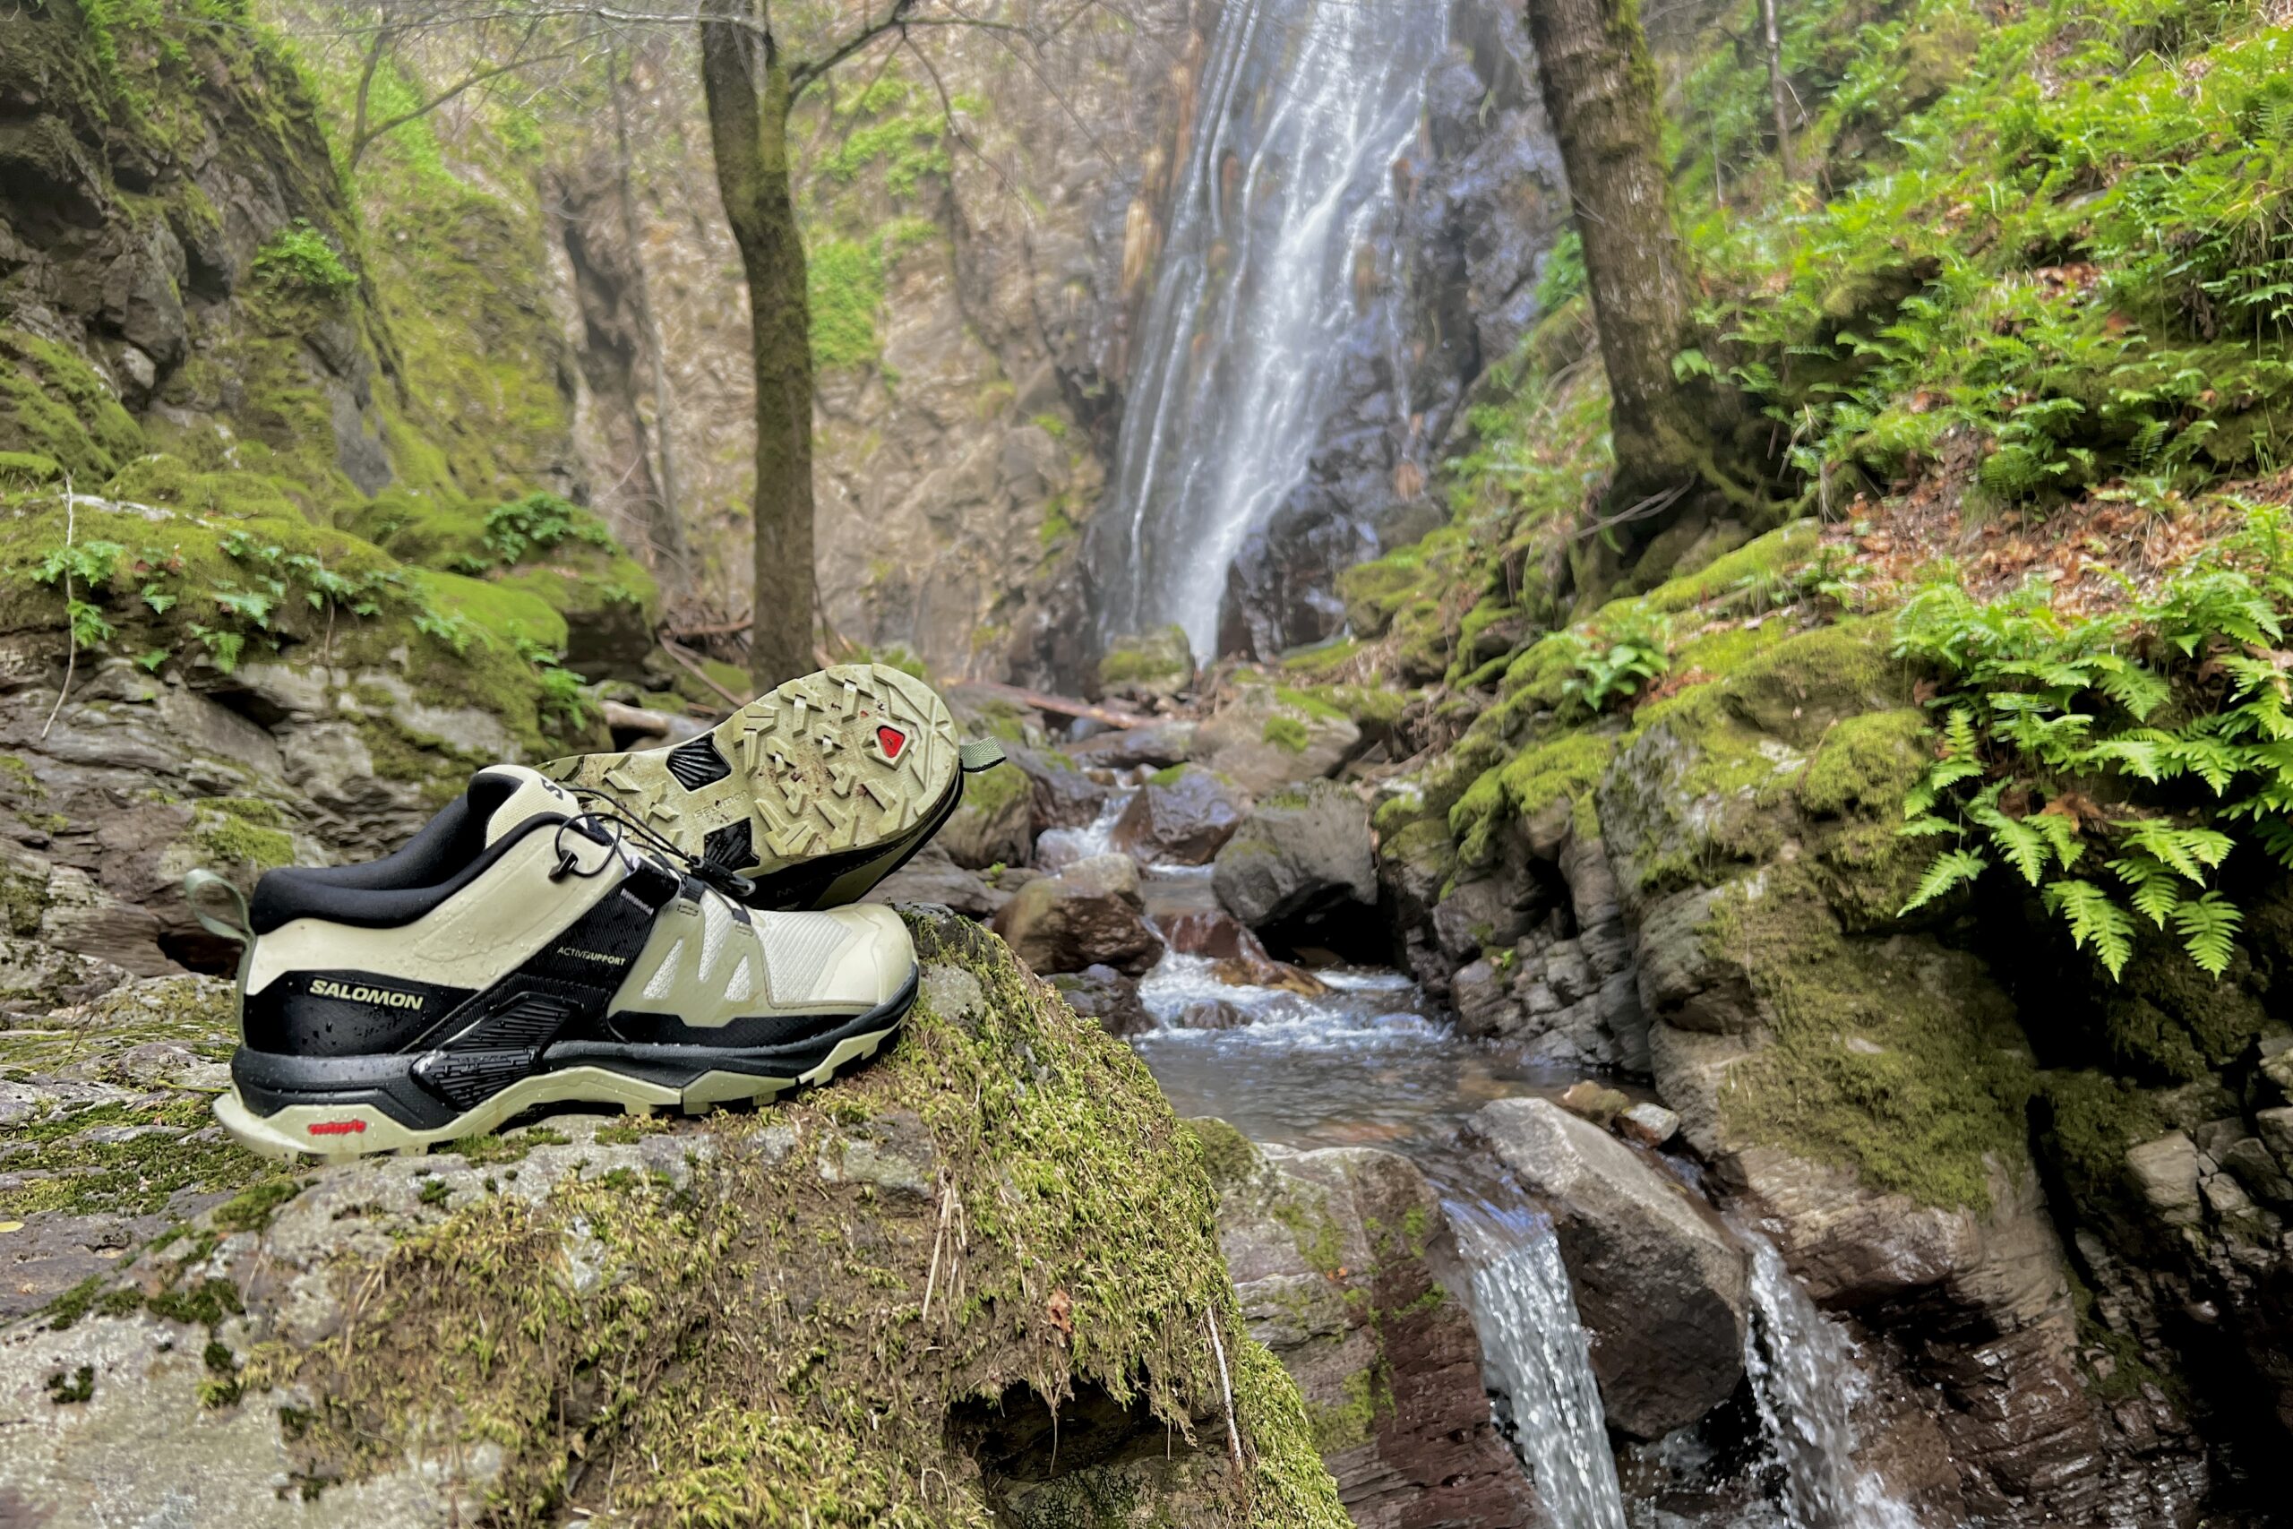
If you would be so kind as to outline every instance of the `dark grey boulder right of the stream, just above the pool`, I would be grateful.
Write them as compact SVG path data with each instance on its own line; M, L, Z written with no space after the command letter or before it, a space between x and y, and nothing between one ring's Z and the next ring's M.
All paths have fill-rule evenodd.
M1353 791L1312 782L1259 800L1218 850L1211 885L1250 928L1307 919L1344 903L1374 905L1369 809Z

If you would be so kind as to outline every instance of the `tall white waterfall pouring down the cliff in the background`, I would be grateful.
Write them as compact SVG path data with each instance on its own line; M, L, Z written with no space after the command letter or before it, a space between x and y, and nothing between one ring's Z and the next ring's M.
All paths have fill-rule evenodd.
M1394 160L1445 46L1435 0L1227 0L1094 527L1110 633L1218 651L1227 569L1307 472L1364 319L1406 374ZM1383 316L1380 316L1383 309Z

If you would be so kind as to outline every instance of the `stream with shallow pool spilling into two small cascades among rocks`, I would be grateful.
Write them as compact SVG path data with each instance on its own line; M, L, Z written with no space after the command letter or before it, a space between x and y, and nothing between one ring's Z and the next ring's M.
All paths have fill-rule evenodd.
M1050 857L1105 850L1126 800L1087 830L1046 834ZM1142 892L1156 919L1215 905L1208 867L1146 867ZM1133 1036L1133 1050L1183 1116L1218 1116L1254 1142L1380 1146L1419 1165L1470 1265L1495 1421L1559 1529L1917 1529L1917 1513L1855 1465L1850 1412L1869 1382L1853 1341L1743 1217L1729 1224L1752 1249L1752 1458L1729 1463L1692 1433L1619 1456L1550 1217L1458 1146L1479 1107L1557 1098L1578 1068L1532 1066L1502 1043L1458 1036L1390 967L1323 967L1321 997L1224 983L1211 967L1163 956L1140 981L1158 1027ZM1699 1181L1685 1160L1678 1174ZM1633 1465L1635 1492L1619 1458Z

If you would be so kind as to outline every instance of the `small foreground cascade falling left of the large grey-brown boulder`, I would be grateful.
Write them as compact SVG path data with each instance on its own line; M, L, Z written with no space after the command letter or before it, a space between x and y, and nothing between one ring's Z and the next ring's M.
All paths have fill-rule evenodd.
M1511 1398L1513 1449L1562 1529L1626 1529L1591 1339L1575 1314L1552 1220L1520 1206L1445 1201L1472 1263L1474 1327Z

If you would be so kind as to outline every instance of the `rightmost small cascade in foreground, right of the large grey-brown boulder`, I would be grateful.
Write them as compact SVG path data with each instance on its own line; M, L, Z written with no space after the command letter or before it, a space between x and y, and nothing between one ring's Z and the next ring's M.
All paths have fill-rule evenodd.
M1754 1323L1743 1341L1768 1449L1784 1469L1793 1529L1919 1529L1919 1515L1887 1495L1878 1472L1855 1465L1855 1405L1869 1382L1855 1341L1816 1309L1784 1254L1731 1217L1752 1249Z

